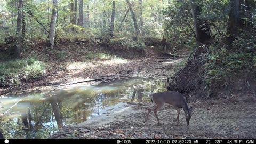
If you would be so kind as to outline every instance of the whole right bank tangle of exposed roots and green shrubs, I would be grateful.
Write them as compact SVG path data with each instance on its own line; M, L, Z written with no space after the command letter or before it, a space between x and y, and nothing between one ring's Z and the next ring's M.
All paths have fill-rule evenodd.
M197 97L255 91L255 44L251 35L241 34L231 49L225 41L201 47L205 50L202 55L195 55L195 49L185 66L174 74L168 89Z

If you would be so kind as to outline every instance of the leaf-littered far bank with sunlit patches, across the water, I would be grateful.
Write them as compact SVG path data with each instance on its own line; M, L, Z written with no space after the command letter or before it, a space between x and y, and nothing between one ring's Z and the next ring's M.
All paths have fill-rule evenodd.
M184 58L169 59L159 47L147 46L143 51L127 47L109 47L101 43L84 41L61 41L54 50L44 48L44 41L28 42L23 58L37 57L46 63L46 74L40 79L21 82L17 86L0 88L0 97L5 95L27 94L31 91L47 92L59 89L56 85L86 81L87 79L108 79L122 77L166 76ZM7 45L2 46L5 49ZM97 54L111 55L107 59L98 59ZM183 55L181 52L179 55ZM62 58L63 57L63 58ZM87 59L91 57L92 59ZM99 81L82 83L97 84Z

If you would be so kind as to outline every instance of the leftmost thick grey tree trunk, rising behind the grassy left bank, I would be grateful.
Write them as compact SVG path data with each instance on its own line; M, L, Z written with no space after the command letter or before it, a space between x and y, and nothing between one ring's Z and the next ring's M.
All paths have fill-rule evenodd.
M21 21L22 21L22 0L19 0L18 4L18 15L17 15L17 28L16 28L16 36L17 36L17 42L16 42L16 58L20 59L20 53L21 53Z

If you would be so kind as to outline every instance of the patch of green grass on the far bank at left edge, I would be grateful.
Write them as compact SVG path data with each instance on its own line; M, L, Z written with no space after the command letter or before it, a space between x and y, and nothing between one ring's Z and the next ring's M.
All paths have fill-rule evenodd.
M44 74L45 65L36 58L12 60L0 64L0 85L17 85L22 78L39 78Z

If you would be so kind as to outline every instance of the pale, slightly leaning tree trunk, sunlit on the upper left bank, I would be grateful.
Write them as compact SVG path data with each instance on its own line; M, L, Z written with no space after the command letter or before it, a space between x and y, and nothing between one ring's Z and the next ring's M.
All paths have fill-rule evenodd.
M54 46L54 39L55 39L57 8L58 8L58 0L53 0L52 18L51 18L50 33L49 33L49 40L50 40L52 49Z

